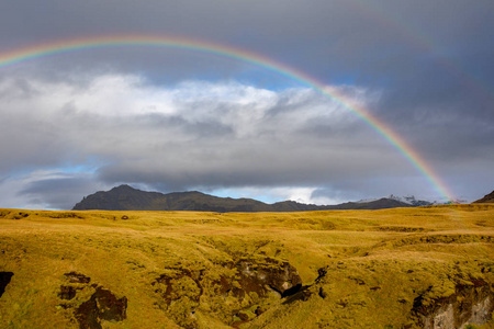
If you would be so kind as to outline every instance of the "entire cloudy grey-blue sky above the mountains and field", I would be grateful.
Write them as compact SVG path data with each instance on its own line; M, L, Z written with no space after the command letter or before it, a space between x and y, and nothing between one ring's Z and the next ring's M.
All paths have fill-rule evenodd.
M0 207L69 209L124 183L268 203L478 200L494 190L492 16L492 0L2 1ZM212 52L5 61L131 36Z

